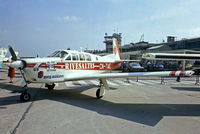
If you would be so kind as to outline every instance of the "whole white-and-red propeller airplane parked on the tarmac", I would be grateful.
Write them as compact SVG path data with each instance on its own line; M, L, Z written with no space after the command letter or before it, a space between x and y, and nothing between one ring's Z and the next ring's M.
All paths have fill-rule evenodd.
M105 89L109 89L107 79L127 78L137 76L191 76L193 71L165 71L165 72L139 72L139 73L105 73L121 66L123 60L119 51L117 40L113 38L113 54L98 56L85 52L72 50L56 51L44 58L26 58L17 60L12 47L12 59L15 62L8 64L21 71L26 83L45 83L48 89L53 89L55 83L75 80L99 80L96 97L102 98ZM31 95L25 88L20 95L21 101L29 101Z

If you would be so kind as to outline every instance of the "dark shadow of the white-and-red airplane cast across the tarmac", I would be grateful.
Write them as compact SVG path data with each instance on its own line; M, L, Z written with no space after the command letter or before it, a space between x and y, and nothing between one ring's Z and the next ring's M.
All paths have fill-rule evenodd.
M0 83L0 88L10 90L11 93L20 93L23 91L23 88L19 86L2 83ZM82 94L83 91L91 88L93 88L93 86L59 90L45 90L43 88L30 87L30 89L32 89L30 91L33 94L31 101L32 103L45 99L58 101L67 105L97 112L101 115L109 115L149 126L155 126L165 116L200 116L200 104L113 103ZM20 95L1 97L0 109L6 108L7 105L19 104L19 96Z

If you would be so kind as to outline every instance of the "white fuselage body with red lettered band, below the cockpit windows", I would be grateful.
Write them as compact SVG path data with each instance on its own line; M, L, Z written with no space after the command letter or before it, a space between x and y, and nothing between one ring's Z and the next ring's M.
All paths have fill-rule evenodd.
M88 76L107 72L118 68L121 63L112 59L96 56L91 61L64 60L62 58L33 58L22 60L26 63L23 69L24 77L32 83L57 83L69 80L78 80L80 76Z

